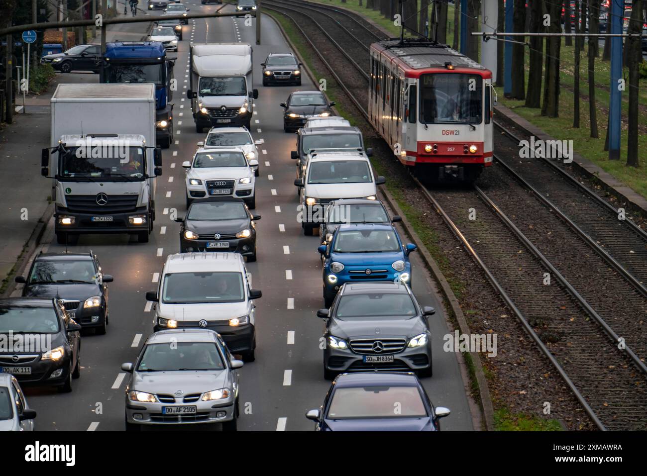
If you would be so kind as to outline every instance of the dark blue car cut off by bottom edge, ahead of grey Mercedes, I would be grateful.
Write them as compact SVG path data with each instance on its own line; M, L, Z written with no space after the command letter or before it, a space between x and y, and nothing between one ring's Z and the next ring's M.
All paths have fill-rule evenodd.
M415 374L356 373L338 376L323 405L305 414L317 431L439 431L439 418Z

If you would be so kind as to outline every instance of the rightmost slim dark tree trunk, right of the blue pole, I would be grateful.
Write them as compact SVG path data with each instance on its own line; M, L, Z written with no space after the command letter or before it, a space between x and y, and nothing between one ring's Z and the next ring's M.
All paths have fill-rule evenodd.
M642 32L642 0L633 0L629 33ZM638 65L642 61L641 38L627 38L629 63L629 111L627 120L627 165L638 167L638 87L640 73Z

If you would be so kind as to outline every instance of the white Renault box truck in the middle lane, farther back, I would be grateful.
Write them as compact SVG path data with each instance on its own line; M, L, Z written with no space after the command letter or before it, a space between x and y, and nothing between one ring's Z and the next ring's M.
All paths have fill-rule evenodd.
M204 127L250 128L258 89L252 82L252 47L244 43L192 43L190 86L195 131Z

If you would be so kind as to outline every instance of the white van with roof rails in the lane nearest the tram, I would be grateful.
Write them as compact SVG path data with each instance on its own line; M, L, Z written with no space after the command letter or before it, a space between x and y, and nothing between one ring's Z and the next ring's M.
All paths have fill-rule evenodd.
M300 188L303 234L312 235L323 222L326 206L338 199L377 199L377 186L384 177L375 177L364 152L310 153L302 179L294 180Z

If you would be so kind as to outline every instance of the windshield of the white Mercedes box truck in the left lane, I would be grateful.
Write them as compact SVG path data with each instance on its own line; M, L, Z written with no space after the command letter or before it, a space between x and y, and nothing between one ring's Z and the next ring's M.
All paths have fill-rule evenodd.
M60 161L60 176L69 179L131 180L142 179L146 172L142 147L101 144L70 147L60 155Z

